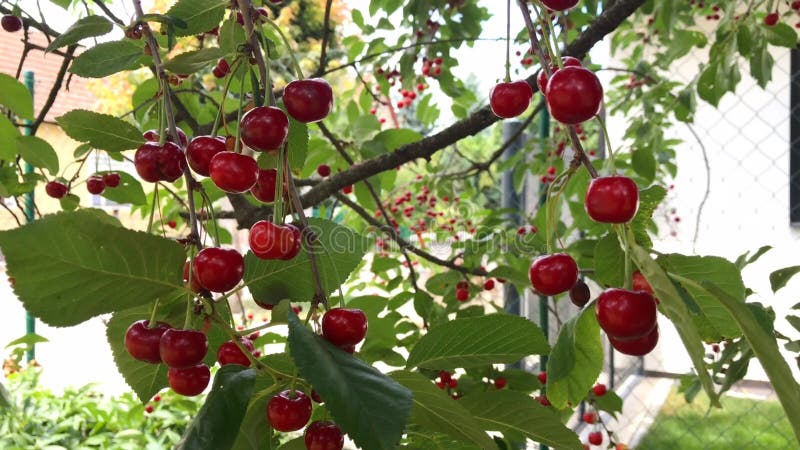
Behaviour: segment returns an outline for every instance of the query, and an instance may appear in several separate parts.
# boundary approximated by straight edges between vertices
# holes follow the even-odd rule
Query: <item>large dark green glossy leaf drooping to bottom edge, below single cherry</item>
[[[370,450],[397,447],[411,412],[411,392],[330,344],[289,313],[289,351],[297,369],[325,399],[336,423]]]

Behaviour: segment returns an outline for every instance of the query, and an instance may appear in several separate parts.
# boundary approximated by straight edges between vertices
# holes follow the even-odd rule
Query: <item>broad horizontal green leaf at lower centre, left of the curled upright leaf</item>
[[[533,322],[508,314],[489,314],[432,328],[411,350],[407,367],[451,369],[512,364],[525,356],[549,351],[544,333]]]

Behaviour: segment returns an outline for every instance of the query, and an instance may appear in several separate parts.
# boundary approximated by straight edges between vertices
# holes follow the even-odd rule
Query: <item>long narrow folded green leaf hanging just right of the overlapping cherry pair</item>
[[[705,363],[705,348],[700,332],[692,320],[692,313],[681,299],[675,285],[672,284],[667,274],[651,257],[647,249],[638,245],[631,246],[631,258],[642,275],[655,291],[655,296],[661,302],[660,310],[675,325],[675,329],[689,352],[689,357],[697,369],[697,375],[712,406],[720,407],[719,395],[714,390],[711,376],[708,374]]]

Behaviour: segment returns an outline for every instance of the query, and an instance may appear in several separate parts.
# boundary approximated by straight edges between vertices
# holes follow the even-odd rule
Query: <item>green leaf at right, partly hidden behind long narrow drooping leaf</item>
[[[658,263],[670,274],[687,278],[696,283],[702,281],[716,283],[725,289],[725,292],[730,296],[744,302],[745,288],[742,274],[735,264],[724,258],[671,254],[659,257]],[[736,325],[736,322],[732,320],[730,314],[712,295],[702,289],[697,289],[691,283],[682,282],[681,279],[678,279],[678,282],[691,294],[703,314],[708,318],[708,326],[713,334],[706,334],[703,336],[704,339],[718,341],[720,337],[735,338],[741,336],[742,331]]]

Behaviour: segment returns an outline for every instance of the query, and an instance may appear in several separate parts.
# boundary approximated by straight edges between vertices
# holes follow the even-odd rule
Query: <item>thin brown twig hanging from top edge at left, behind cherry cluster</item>
[[[175,115],[172,112],[172,98],[170,94],[169,88],[169,80],[167,77],[167,72],[164,70],[164,64],[161,61],[161,54],[159,53],[158,41],[156,37],[153,35],[152,30],[150,30],[150,26],[145,22],[142,17],[144,16],[144,11],[142,10],[142,2],[141,0],[133,0],[133,7],[136,11],[136,21],[142,24],[142,32],[144,33],[145,37],[147,38],[147,45],[150,47],[150,53],[153,57],[153,66],[155,68],[156,76],[158,77],[161,83],[161,95],[163,96],[164,100],[164,113],[167,118],[167,124],[169,125],[169,134],[173,137],[176,145],[183,149],[183,143],[181,142],[180,137],[178,136],[178,126],[175,123]],[[163,130],[159,130],[159,133],[163,134]],[[188,193],[188,204],[189,204],[189,224],[191,227],[191,240],[195,241],[195,245],[197,248],[202,248],[202,244],[200,243],[200,232],[197,225],[197,211],[195,210],[194,205],[194,185],[195,181],[192,178],[192,174],[189,172],[189,166],[183,168],[183,177],[186,181],[186,190]]]

